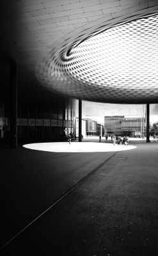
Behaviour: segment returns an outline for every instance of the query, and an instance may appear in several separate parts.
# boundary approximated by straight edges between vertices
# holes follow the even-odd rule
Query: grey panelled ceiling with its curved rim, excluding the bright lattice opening
[[[79,81],[74,75],[69,81],[68,77],[72,76],[69,72],[70,67],[69,70],[67,67],[63,68],[60,59],[66,58],[65,53],[68,49],[73,49],[85,38],[99,33],[102,29],[109,29],[157,11],[157,0],[1,0],[1,66],[4,67],[4,61],[8,60],[18,64],[19,93],[24,98],[38,95],[40,84],[43,84],[44,88],[52,92],[70,97],[116,102],[116,99],[107,92],[112,92],[115,88],[106,87],[106,93],[103,90],[105,88],[99,88],[97,92],[97,86],[102,85],[91,83],[91,86],[88,84],[89,77],[86,77],[89,82],[85,83],[81,83],[82,77],[79,77]],[[52,76],[54,67],[58,67],[58,70],[56,69]],[[62,72],[66,72],[66,83],[65,77],[63,81],[60,80]],[[4,76],[2,87],[5,89],[9,74],[8,71],[1,73]],[[116,95],[115,92],[113,94]],[[155,92],[150,100],[157,102]]]

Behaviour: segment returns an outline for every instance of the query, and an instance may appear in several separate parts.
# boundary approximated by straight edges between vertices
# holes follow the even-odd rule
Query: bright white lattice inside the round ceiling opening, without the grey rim
[[[158,15],[107,29],[84,40],[68,55],[58,60],[65,75],[60,79],[158,93]],[[55,72],[56,68],[51,75]]]

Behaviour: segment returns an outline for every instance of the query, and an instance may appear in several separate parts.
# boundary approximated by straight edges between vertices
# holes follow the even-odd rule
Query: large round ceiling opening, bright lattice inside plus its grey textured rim
[[[118,12],[52,45],[36,76],[49,90],[79,99],[157,102],[157,38],[157,7],[138,15]]]

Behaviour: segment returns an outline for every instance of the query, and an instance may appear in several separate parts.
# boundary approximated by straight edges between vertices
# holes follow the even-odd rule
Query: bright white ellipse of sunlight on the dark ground
[[[136,148],[133,145],[113,145],[112,143],[97,142],[49,142],[23,145],[25,148],[49,152],[110,152]]]

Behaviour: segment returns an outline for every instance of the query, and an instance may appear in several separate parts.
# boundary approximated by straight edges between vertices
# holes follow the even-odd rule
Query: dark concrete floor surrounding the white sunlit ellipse
[[[158,141],[130,145],[137,148],[1,148],[1,246],[11,239],[1,255],[158,255]]]

